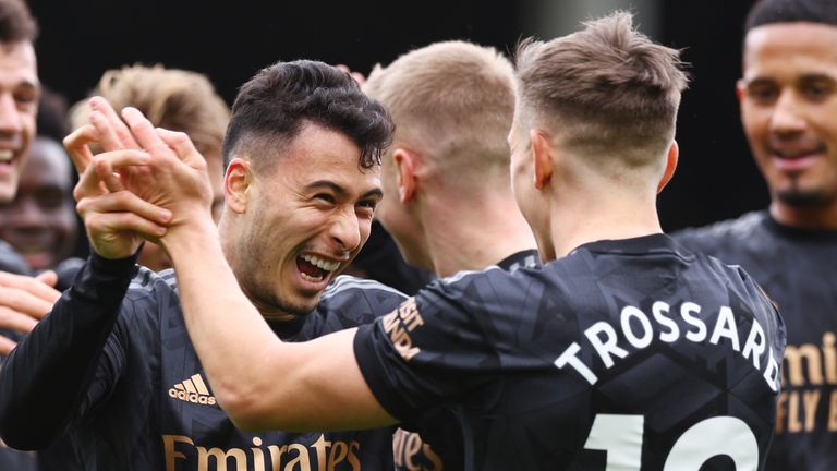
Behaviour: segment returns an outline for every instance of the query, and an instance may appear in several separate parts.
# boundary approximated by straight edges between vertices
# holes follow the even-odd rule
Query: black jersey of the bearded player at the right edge
[[[767,469],[837,470],[837,230],[781,226],[762,210],[672,237],[741,265],[785,319],[783,394]]]

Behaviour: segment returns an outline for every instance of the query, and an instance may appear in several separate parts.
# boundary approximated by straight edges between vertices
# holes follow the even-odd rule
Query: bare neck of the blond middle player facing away
[[[439,204],[423,215],[434,273],[446,277],[478,270],[536,247],[535,238],[511,198]]]

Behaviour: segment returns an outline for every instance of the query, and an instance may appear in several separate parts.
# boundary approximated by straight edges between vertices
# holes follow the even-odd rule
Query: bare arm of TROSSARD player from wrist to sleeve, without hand
[[[282,342],[239,288],[217,237],[182,231],[162,242],[178,274],[192,342],[236,426],[308,431],[395,423],[357,366],[355,329]]]

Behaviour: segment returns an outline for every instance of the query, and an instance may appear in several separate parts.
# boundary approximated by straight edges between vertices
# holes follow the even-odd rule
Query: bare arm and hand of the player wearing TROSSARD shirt
[[[209,210],[204,159],[184,134],[123,112],[151,156],[154,192],[173,214],[161,239],[178,275],[192,342],[220,406],[244,430],[337,430],[395,420],[372,395],[354,358],[354,330],[286,343],[239,288]]]

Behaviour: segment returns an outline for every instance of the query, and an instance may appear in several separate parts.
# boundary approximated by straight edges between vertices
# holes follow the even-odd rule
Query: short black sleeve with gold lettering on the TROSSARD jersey
[[[392,416],[411,421],[490,381],[499,355],[459,283],[436,282],[362,326],[354,352],[366,384]]]

